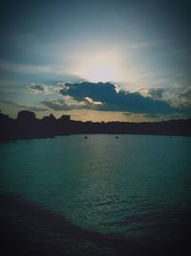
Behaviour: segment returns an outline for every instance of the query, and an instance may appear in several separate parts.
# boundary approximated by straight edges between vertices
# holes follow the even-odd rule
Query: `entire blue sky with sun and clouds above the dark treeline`
[[[189,1],[1,1],[0,109],[15,118],[191,118]]]

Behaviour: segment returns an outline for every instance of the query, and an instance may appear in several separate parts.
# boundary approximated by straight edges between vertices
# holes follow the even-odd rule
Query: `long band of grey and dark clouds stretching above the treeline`
[[[33,97],[38,94],[36,105],[21,105],[11,101],[4,104],[32,111],[97,110],[121,112],[124,116],[142,115],[157,117],[189,117],[191,110],[191,86],[177,87],[173,91],[162,88],[139,87],[125,91],[112,82],[57,82],[54,85],[27,86]],[[44,95],[43,95],[44,94]],[[43,99],[44,98],[44,99]]]

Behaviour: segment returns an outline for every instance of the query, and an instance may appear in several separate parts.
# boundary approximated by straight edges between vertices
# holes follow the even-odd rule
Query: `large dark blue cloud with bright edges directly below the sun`
[[[149,95],[142,96],[137,92],[126,92],[119,90],[117,92],[115,84],[111,82],[89,82],[82,81],[76,83],[65,83],[67,87],[58,92],[62,95],[69,95],[76,101],[84,101],[90,98],[98,110],[102,111],[128,111],[134,113],[172,113],[177,109],[161,98],[162,89],[150,89]],[[151,97],[152,96],[152,97]]]

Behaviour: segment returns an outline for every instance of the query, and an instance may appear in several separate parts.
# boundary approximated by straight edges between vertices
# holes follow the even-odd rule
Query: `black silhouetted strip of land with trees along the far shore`
[[[0,113],[0,140],[51,138],[71,134],[153,134],[191,136],[191,119],[162,122],[93,123],[71,120],[70,115],[56,119],[53,114],[37,119],[32,111],[22,110],[17,118]]]

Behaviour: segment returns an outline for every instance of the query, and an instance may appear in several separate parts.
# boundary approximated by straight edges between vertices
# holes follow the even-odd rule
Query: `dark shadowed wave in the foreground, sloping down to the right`
[[[177,255],[189,245],[186,240],[160,244],[152,238],[136,240],[85,230],[53,210],[13,195],[0,195],[0,206],[1,243],[8,255]]]

